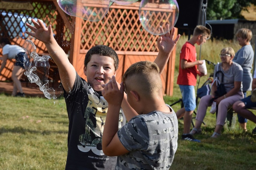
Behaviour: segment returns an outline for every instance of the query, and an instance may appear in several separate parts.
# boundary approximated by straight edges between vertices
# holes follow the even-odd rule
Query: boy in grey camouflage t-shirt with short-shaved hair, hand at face
[[[102,137],[105,155],[118,156],[116,169],[169,169],[177,150],[178,120],[165,104],[162,81],[155,63],[141,61],[123,75],[120,90],[114,76],[104,86],[108,115]],[[123,91],[130,106],[139,114],[118,130],[118,108]]]

